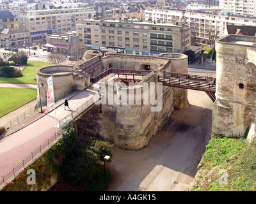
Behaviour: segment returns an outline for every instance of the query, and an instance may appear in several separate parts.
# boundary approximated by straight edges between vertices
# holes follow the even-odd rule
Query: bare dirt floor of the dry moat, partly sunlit
[[[138,151],[113,147],[107,191],[188,191],[211,138],[212,106],[205,92],[188,91],[189,108],[175,110],[148,146]],[[90,121],[87,119],[87,121]],[[61,180],[51,191],[83,191]]]

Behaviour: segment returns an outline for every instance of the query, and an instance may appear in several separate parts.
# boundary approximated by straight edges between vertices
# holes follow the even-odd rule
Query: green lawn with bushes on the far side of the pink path
[[[23,69],[23,77],[16,78],[5,78],[0,77],[0,83],[9,83],[9,84],[36,84],[34,78],[36,78],[36,69],[51,65],[50,62],[38,62],[38,61],[29,61],[25,69]]]

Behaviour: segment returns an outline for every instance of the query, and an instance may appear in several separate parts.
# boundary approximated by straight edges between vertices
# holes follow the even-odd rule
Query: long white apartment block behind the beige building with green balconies
[[[182,17],[182,11],[179,9],[147,8],[145,10],[145,20],[156,22],[173,22]],[[191,29],[191,38],[195,36],[198,43],[209,45],[209,29],[214,28],[223,36],[225,27],[229,25],[256,25],[256,17],[245,17],[242,15],[224,15],[210,11],[191,11],[186,10],[189,27]]]

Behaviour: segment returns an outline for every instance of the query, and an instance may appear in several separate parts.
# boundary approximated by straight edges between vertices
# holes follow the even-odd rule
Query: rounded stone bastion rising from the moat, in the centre
[[[163,99],[163,104],[159,108],[160,111],[152,111],[154,105],[150,103],[149,95],[148,103],[146,102],[147,100],[145,101],[145,98],[143,98],[143,94],[147,90],[144,89],[144,87],[147,85],[150,91],[149,84],[151,82],[154,82],[155,84],[154,91],[156,95],[158,76],[154,73],[148,74],[147,77],[140,82],[143,86],[140,92],[134,91],[132,94],[129,94],[129,89],[132,88],[127,87],[125,89],[122,87],[120,90],[117,84],[113,86],[114,95],[118,94],[118,91],[127,93],[127,105],[124,103],[116,104],[115,102],[113,105],[102,104],[102,128],[100,136],[115,143],[117,147],[122,149],[137,150],[148,144],[150,138],[152,138],[157,130],[163,126],[173,111],[172,87],[168,87],[168,89],[163,92],[163,97],[159,98],[159,101],[162,101]],[[108,89],[107,85],[106,90]],[[149,93],[147,92],[147,94]],[[105,100],[104,96],[109,97],[111,96],[111,93],[108,91],[104,92],[102,94],[103,101]],[[131,96],[134,99],[134,105],[128,103]],[[136,104],[136,96],[140,98],[140,105]],[[107,103],[109,103],[109,101],[107,101]]]

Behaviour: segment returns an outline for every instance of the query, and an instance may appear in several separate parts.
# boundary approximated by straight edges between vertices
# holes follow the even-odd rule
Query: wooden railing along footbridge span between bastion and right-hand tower
[[[174,78],[174,77],[159,77],[159,82],[163,82],[164,85],[170,85],[172,87],[180,87],[185,89],[194,89],[198,91],[216,91],[216,84],[212,82],[205,82],[201,80],[190,80],[186,78]]]

